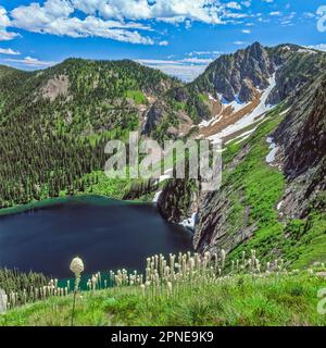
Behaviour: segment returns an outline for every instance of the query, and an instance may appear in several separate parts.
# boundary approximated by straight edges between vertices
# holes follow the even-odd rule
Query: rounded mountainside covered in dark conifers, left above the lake
[[[97,185],[105,142],[139,129],[150,102],[177,85],[128,60],[0,66],[0,208]]]

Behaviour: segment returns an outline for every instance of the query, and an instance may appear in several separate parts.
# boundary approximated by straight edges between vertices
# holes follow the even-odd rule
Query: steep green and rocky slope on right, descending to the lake
[[[277,148],[273,163],[263,163],[268,151],[262,151],[262,139],[253,138],[246,142],[237,156],[226,164],[225,185],[220,191],[208,195],[199,209],[199,223],[193,240],[198,250],[216,251],[223,248],[227,252],[233,252],[242,248],[243,245],[255,244],[264,232],[267,235],[271,233],[268,236],[272,238],[271,240],[273,238],[279,239],[275,244],[273,252],[284,256],[286,254],[285,245],[291,243],[290,238],[292,238],[287,231],[292,228],[294,221],[302,223],[302,231],[306,232],[306,235],[296,236],[299,239],[309,240],[309,233],[312,234],[309,228],[317,231],[317,227],[313,228],[309,225],[312,220],[311,215],[324,216],[319,217],[319,223],[325,225],[325,94],[326,76],[317,79],[313,85],[302,87],[297,94],[297,98],[291,100],[293,104],[287,113],[286,110],[283,112],[279,110],[271,114],[271,117],[281,117],[279,115],[286,113],[274,132],[266,132],[273,127],[272,124],[268,126],[268,122],[265,126],[267,128],[262,132],[262,138],[271,136]],[[264,125],[262,125],[262,129]],[[256,165],[253,158],[259,149],[262,151],[262,162]],[[248,165],[250,169],[247,172]],[[259,171],[264,172],[263,166],[273,167],[275,179],[269,182],[265,177],[254,174]],[[234,175],[237,181],[233,179]],[[277,175],[279,175],[279,179]],[[284,176],[283,188],[279,187],[274,201],[273,199],[269,201],[269,196],[274,195],[272,185],[275,185],[276,191],[281,175]],[[248,183],[248,176],[252,179],[260,179],[260,182]],[[265,187],[259,189],[256,185]],[[253,194],[251,190],[256,195],[253,201],[250,199]],[[265,194],[266,197],[262,199]],[[235,209],[235,204],[239,206]],[[256,209],[269,212],[268,214],[256,213]],[[274,226],[272,225],[273,214],[275,214]],[[276,226],[278,227],[276,228]],[[273,232],[274,229],[275,232]],[[261,247],[263,240],[256,244],[258,247]],[[293,245],[292,248],[294,250],[296,246]],[[303,252],[303,250],[301,251]],[[322,257],[325,259],[326,251]]]

